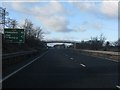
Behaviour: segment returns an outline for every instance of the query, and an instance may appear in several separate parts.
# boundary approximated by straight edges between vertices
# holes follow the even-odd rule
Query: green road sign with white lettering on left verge
[[[24,43],[24,29],[4,29],[4,38],[8,43]]]

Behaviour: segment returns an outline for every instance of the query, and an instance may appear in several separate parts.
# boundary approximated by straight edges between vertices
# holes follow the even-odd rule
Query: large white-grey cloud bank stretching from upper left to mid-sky
[[[32,6],[33,3],[12,2],[9,6],[17,12],[32,15],[39,20],[44,27],[55,32],[70,32],[69,21],[65,18],[66,10],[60,2],[47,2],[44,5]],[[32,7],[27,7],[32,6]]]

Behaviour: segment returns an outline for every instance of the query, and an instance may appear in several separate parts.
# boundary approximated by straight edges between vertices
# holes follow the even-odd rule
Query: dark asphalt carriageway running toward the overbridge
[[[71,49],[49,49],[3,81],[4,88],[116,88],[119,62],[80,54]]]

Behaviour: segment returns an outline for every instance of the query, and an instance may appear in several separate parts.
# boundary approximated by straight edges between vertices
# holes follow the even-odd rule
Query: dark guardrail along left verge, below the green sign
[[[37,51],[23,51],[23,52],[16,52],[16,53],[10,53],[10,54],[3,54],[2,67],[3,69],[6,69],[9,66],[28,60],[29,58],[37,54],[38,54]]]

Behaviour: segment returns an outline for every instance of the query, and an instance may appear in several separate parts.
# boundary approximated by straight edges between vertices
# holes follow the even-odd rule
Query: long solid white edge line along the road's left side
[[[39,57],[35,58],[34,60],[30,61],[30,62],[27,63],[26,65],[22,66],[22,67],[19,68],[18,70],[12,72],[12,73],[9,74],[8,76],[4,77],[2,80],[0,80],[0,83],[2,83],[2,82],[5,81],[6,79],[8,79],[8,78],[11,77],[12,75],[14,75],[15,73],[19,72],[20,70],[24,69],[24,68],[27,67],[28,65],[32,64],[34,61],[36,61],[37,59],[41,58],[41,57],[44,56],[46,53],[48,53],[48,51],[46,51],[45,53],[43,53],[43,54],[40,55]]]

